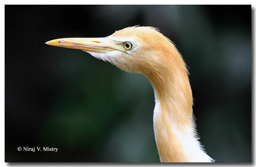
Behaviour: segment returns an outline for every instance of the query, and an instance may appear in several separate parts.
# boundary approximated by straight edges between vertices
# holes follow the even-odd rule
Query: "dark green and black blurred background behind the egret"
[[[146,77],[44,44],[138,24],[159,28],[190,67],[208,155],[251,162],[251,5],[5,5],[5,162],[159,162]]]

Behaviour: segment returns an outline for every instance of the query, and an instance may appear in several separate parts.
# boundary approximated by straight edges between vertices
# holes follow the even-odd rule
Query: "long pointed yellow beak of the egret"
[[[105,38],[60,38],[46,42],[56,47],[80,49],[91,52],[108,53],[119,50],[118,42]],[[118,48],[118,49],[116,49]]]

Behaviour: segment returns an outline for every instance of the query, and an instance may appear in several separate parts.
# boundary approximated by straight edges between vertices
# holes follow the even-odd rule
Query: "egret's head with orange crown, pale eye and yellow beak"
[[[121,70],[146,76],[170,68],[178,53],[174,44],[154,27],[127,27],[104,38],[61,38],[45,44],[83,50]]]

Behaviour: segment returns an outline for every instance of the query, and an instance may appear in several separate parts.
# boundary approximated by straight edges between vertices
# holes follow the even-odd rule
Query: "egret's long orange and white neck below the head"
[[[177,53],[169,67],[147,78],[155,92],[153,115],[156,145],[161,162],[211,162],[196,137],[193,98],[186,65]],[[175,67],[173,69],[172,67]]]

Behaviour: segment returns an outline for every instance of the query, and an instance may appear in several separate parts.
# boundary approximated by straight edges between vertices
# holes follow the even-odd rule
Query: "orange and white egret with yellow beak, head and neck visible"
[[[161,162],[214,162],[199,142],[188,70],[174,43],[154,27],[127,27],[104,38],[61,38],[45,44],[79,49],[147,77],[155,94],[153,125]]]

